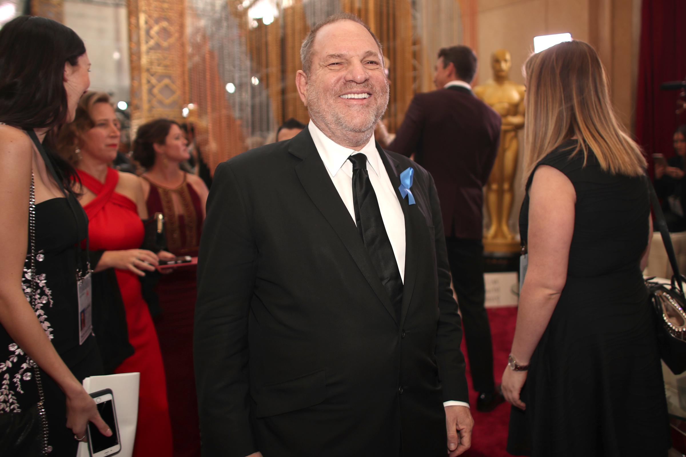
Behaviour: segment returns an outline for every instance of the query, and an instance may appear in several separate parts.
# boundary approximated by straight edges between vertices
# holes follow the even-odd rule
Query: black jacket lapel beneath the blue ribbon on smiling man
[[[418,208],[415,205],[407,203],[407,198],[403,199],[400,195],[400,177],[399,174],[403,170],[399,170],[400,163],[386,153],[377,143],[379,156],[383,166],[386,167],[386,173],[390,178],[390,182],[395,190],[395,195],[400,201],[400,206],[403,208],[405,215],[405,277],[403,278],[403,304],[401,306],[400,325],[403,326],[407,310],[410,308],[410,301],[412,293],[414,293],[414,282],[417,278],[417,259],[418,259],[418,243],[414,242],[415,234],[421,232],[417,228]],[[412,208],[412,207],[415,208]]]

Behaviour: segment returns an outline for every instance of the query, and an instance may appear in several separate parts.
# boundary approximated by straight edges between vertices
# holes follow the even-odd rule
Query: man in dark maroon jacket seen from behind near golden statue
[[[445,242],[464,321],[477,409],[503,402],[493,380],[493,345],[484,308],[484,186],[498,151],[501,117],[469,85],[477,59],[466,46],[441,49],[434,84],[417,94],[388,149],[421,164],[436,182]],[[383,143],[383,141],[382,141]]]

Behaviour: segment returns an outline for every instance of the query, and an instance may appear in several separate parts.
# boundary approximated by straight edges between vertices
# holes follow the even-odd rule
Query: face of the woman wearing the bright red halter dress
[[[110,103],[95,103],[91,109],[93,127],[78,136],[81,153],[109,163],[117,157],[119,148],[119,120]]]

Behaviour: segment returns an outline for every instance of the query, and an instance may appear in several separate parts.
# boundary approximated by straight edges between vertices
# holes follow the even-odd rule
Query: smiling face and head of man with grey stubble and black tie
[[[312,48],[309,75],[296,77],[310,118],[336,143],[366,143],[388,106],[377,43],[362,25],[343,20],[324,25]]]

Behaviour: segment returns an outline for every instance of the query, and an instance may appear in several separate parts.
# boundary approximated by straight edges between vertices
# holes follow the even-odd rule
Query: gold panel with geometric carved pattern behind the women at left
[[[178,0],[128,0],[132,134],[152,119],[181,119],[187,99],[185,7]]]

